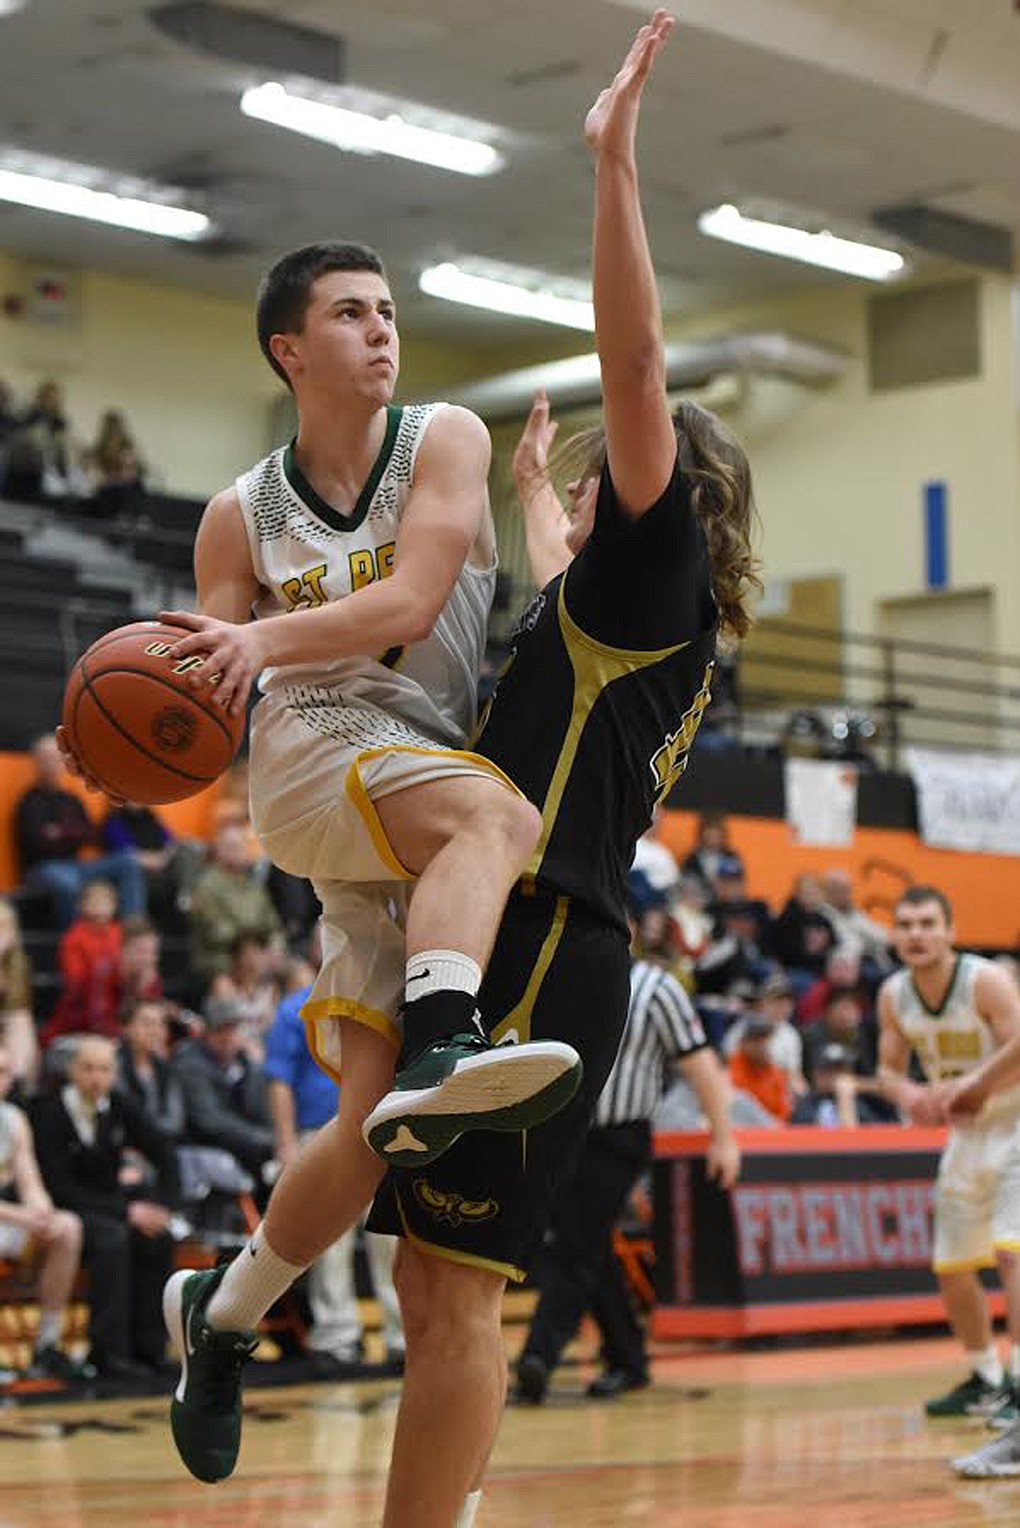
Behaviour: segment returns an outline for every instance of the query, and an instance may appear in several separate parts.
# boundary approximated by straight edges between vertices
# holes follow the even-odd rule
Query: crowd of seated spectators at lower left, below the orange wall
[[[20,886],[0,898],[0,1259],[35,1247],[34,1374],[136,1384],[165,1366],[174,1244],[240,1242],[244,1204],[264,1207],[301,1134],[336,1112],[336,1085],[310,1086],[293,1002],[315,978],[318,903],[270,876],[243,785],[224,788],[209,842],[182,842],[145,807],[90,816],[52,736],[31,756],[12,821]],[[32,949],[53,950],[52,1001],[18,912]],[[363,1352],[353,1250],[310,1279],[324,1374]],[[370,1262],[392,1368],[392,1250],[371,1245]],[[86,1360],[61,1343],[79,1267]]]

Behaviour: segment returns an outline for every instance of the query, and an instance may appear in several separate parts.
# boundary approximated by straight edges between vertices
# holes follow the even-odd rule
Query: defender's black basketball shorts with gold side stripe
[[[478,999],[483,1019],[495,1041],[566,1041],[585,1065],[582,1085],[534,1131],[470,1131],[428,1167],[391,1169],[368,1229],[524,1279],[553,1195],[585,1143],[629,996],[631,953],[621,929],[570,897],[515,889]]]

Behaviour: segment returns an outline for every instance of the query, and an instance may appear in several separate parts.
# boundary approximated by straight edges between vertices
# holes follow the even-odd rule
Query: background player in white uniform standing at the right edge
[[[953,947],[953,912],[934,886],[896,905],[893,938],[904,970],[878,993],[880,1079],[915,1125],[947,1118],[947,1088],[1020,1039],[1020,995],[991,961]],[[925,1082],[909,1077],[918,1057]],[[1006,1294],[1009,1372],[991,1331],[980,1268],[999,1268]],[[1020,1089],[989,1099],[953,1128],[934,1198],[934,1271],[970,1374],[928,1401],[930,1416],[988,1413],[1020,1386]]]

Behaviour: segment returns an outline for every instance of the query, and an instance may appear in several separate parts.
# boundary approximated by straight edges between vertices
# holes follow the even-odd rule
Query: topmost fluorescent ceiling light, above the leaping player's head
[[[475,138],[441,133],[405,121],[399,112],[370,116],[327,101],[292,95],[281,84],[253,86],[241,96],[241,112],[292,133],[318,138],[353,154],[392,154],[420,165],[454,170],[463,176],[492,176],[502,154]]]

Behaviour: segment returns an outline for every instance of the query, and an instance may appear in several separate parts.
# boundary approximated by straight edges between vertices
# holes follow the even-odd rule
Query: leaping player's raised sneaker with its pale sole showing
[[[478,1033],[426,1045],[394,1077],[362,1134],[394,1167],[440,1157],[464,1131],[530,1131],[570,1103],[580,1056],[562,1041],[492,1045]]]

